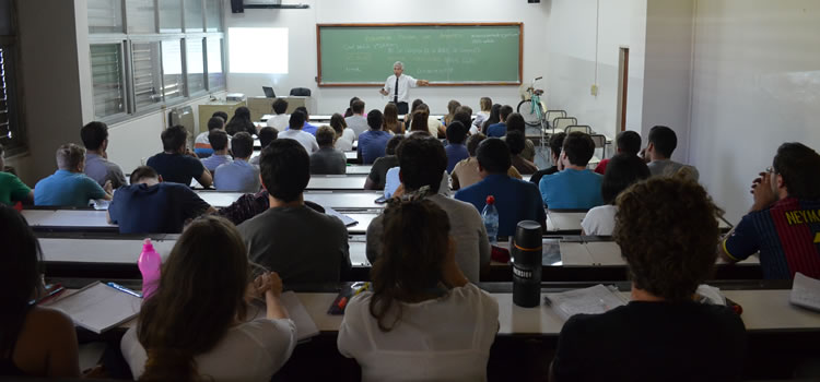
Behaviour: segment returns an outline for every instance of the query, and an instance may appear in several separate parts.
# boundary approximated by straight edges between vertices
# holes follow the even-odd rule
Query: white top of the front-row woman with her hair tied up
[[[337,345],[355,358],[362,381],[484,381],[499,331],[499,302],[477,286],[401,303],[401,320],[382,332],[370,313],[372,293],[352,298]]]

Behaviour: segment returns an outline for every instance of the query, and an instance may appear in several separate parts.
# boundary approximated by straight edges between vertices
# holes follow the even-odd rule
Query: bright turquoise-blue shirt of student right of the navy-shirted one
[[[564,169],[541,177],[538,188],[541,200],[550,210],[589,210],[604,205],[600,195],[602,177],[590,169]]]

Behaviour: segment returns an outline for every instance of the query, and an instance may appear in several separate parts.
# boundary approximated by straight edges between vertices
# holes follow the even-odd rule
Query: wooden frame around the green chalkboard
[[[321,28],[362,26],[518,26],[518,81],[513,82],[430,82],[429,86],[519,86],[524,76],[524,23],[364,23],[364,24],[316,24],[316,82],[325,87],[382,86],[383,83],[327,83],[321,80]],[[389,74],[388,74],[389,75]],[[385,76],[387,77],[387,76]]]

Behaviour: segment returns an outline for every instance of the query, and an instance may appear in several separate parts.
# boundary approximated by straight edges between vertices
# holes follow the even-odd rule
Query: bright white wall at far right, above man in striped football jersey
[[[737,222],[777,146],[820,148],[820,2],[699,0],[689,157]]]

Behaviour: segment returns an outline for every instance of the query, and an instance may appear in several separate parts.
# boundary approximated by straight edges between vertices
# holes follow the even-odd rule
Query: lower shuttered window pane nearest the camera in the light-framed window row
[[[122,44],[91,46],[94,116],[97,119],[126,112],[122,70]]]

